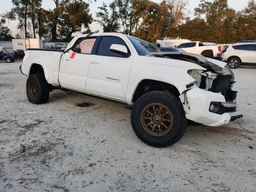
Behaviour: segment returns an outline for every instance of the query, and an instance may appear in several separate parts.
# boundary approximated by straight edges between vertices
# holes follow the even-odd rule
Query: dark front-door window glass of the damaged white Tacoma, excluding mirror
[[[97,50],[97,55],[109,56],[109,57],[122,57],[122,56],[110,51],[110,46],[112,44],[124,45],[124,46],[126,46],[128,52],[129,52],[129,49],[128,49],[126,43],[121,38],[114,37],[114,36],[103,36],[102,39],[100,40],[100,44],[99,44],[99,47]]]

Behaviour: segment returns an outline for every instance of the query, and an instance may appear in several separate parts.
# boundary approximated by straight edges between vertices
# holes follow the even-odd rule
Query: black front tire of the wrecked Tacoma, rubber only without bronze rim
[[[141,115],[146,106],[159,103],[166,106],[172,113],[171,130],[163,136],[152,136],[143,128]],[[179,98],[168,92],[152,91],[142,95],[135,102],[131,113],[131,124],[135,134],[142,142],[153,147],[167,147],[178,142],[186,132],[188,121]]]

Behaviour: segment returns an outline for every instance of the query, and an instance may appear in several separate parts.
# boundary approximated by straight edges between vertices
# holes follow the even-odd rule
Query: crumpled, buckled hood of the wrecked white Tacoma
[[[170,59],[184,60],[198,64],[204,68],[210,68],[212,71],[221,75],[231,75],[234,81],[234,74],[228,64],[212,58],[206,58],[200,54],[192,54],[186,52],[151,52],[146,56],[161,56]]]

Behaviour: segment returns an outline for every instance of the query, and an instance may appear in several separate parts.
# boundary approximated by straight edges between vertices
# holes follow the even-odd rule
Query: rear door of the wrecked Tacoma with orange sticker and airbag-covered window
[[[82,40],[61,58],[59,81],[66,88],[85,91],[89,61],[93,60],[92,49],[96,37]]]

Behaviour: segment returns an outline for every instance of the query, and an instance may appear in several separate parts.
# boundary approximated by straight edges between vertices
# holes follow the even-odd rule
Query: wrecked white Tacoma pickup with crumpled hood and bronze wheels
[[[155,147],[176,143],[190,123],[221,126],[242,117],[226,63],[161,52],[120,33],[80,35],[65,51],[28,49],[20,72],[34,104],[62,87],[130,105],[134,132]]]

